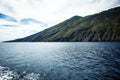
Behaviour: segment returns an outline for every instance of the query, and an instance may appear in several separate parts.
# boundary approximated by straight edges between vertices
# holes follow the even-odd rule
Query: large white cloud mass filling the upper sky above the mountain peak
[[[91,15],[119,5],[119,0],[0,0],[0,12],[17,20],[35,18],[52,26],[74,15]]]

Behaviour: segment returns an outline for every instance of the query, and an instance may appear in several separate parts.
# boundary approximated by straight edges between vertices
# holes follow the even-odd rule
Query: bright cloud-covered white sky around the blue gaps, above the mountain
[[[120,6],[120,0],[0,0],[0,13],[15,18],[13,26],[0,26],[0,41],[22,38],[58,24],[72,16],[87,16]],[[20,20],[32,18],[47,24],[21,25]],[[8,21],[0,20],[0,25]],[[13,25],[10,22],[9,25]]]

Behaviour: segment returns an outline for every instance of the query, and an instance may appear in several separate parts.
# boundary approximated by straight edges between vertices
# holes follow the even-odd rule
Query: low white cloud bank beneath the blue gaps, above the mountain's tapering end
[[[38,24],[32,25],[19,25],[15,27],[0,26],[0,41],[13,40],[16,38],[22,38],[39,31],[44,30],[46,27],[40,27]]]

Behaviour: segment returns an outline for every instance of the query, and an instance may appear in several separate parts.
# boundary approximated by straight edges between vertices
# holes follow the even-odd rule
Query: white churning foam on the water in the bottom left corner
[[[8,67],[0,66],[0,80],[40,80],[40,74],[27,72],[18,74],[17,72],[10,70]]]

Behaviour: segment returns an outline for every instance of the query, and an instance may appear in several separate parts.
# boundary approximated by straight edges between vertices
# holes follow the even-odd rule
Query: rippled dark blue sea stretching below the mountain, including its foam
[[[120,80],[120,43],[0,43],[0,80]]]

